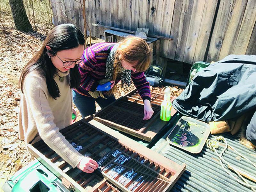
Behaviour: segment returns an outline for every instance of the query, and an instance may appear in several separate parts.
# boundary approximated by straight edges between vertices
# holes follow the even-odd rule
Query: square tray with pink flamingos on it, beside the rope
[[[203,121],[182,116],[166,140],[190,153],[200,153],[210,134],[210,126]]]

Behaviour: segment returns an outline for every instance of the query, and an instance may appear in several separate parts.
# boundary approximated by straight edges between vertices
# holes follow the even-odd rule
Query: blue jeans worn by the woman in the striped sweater
[[[93,97],[81,95],[74,90],[72,90],[72,94],[73,102],[83,118],[96,112],[95,101],[100,105],[101,109],[116,101],[114,95],[109,96],[107,99],[104,99],[102,97],[98,97],[97,99],[95,99]]]

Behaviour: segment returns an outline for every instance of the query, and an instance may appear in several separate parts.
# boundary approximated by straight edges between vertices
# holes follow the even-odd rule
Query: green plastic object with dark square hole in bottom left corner
[[[68,191],[61,184],[61,180],[37,160],[16,172],[4,185],[9,185],[12,192]]]

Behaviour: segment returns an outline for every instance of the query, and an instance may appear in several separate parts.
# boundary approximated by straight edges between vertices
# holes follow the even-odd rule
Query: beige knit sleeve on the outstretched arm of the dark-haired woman
[[[48,103],[47,86],[43,78],[27,76],[24,82],[28,106],[33,111],[33,118],[39,135],[44,142],[62,157],[73,168],[78,165],[82,157],[78,151],[60,133],[59,127],[53,122],[52,110]]]

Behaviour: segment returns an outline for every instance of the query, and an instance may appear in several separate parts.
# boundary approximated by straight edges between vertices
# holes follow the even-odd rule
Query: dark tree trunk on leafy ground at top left
[[[9,0],[15,27],[19,31],[32,31],[22,0]]]

